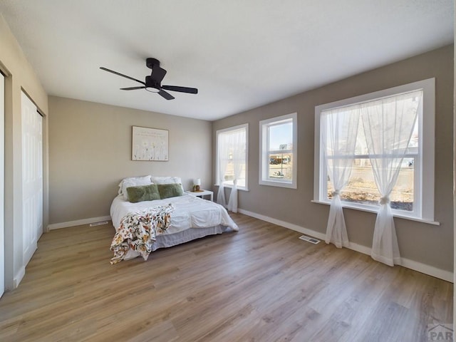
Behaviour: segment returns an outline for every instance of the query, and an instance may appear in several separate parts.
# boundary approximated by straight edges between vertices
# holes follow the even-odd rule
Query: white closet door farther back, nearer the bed
[[[43,233],[43,118],[22,93],[22,237],[24,266]]]

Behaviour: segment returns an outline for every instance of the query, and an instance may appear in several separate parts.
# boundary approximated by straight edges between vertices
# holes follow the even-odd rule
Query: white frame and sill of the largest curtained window
[[[321,112],[347,105],[356,105],[378,98],[399,95],[413,90],[423,90],[423,109],[418,115],[418,162],[414,165],[414,199],[413,212],[392,209],[395,217],[413,219],[420,222],[438,224],[434,222],[434,192],[435,192],[435,78],[408,83],[385,90],[375,91],[364,95],[338,100],[332,103],[317,105],[315,107],[315,151],[314,151],[314,200],[313,202],[330,204],[325,197],[327,190],[326,163],[323,158],[320,125]],[[368,212],[378,212],[378,206],[356,202],[341,201],[343,207],[359,209]]]

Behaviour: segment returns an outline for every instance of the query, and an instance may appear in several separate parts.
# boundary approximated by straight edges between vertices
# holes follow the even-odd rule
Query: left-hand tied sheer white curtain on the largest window
[[[329,180],[334,188],[325,241],[327,244],[332,242],[338,248],[348,247],[348,234],[340,194],[350,178],[355,159],[359,105],[327,110],[322,114],[323,151]]]

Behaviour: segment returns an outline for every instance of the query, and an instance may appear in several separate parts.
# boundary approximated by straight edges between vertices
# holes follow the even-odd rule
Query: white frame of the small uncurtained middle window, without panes
[[[293,155],[293,168],[291,170],[291,182],[288,180],[271,180],[269,178],[269,154],[276,150],[269,150],[269,134],[267,130],[272,125],[279,125],[281,121],[290,120],[293,124],[293,138],[291,151]],[[286,115],[277,116],[259,122],[259,184],[269,185],[273,187],[286,187],[290,189],[297,189],[297,175],[298,175],[298,114],[291,113]],[[283,152],[283,151],[281,151]]]

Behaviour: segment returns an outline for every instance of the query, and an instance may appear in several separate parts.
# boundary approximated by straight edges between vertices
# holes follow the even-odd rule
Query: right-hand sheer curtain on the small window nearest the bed
[[[234,180],[231,194],[229,195],[227,209],[232,212],[237,212],[237,182],[239,175],[242,172],[242,167],[245,164],[245,153],[246,153],[246,130],[235,130],[230,135],[229,145],[232,149],[232,162],[234,171]]]

